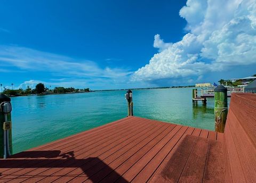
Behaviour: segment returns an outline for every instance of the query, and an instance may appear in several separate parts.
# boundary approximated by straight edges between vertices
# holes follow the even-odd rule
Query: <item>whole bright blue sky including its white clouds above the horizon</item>
[[[1,1],[0,82],[118,89],[251,76],[255,1],[225,3]]]

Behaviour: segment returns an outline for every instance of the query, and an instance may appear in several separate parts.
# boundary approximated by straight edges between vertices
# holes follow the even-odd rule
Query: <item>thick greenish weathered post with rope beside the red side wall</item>
[[[215,131],[224,132],[228,114],[227,88],[219,85],[214,89]]]

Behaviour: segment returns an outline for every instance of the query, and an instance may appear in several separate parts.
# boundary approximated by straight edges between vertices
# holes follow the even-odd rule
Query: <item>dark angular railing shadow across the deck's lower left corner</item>
[[[47,158],[47,159],[21,159],[20,158]],[[61,159],[54,159],[56,157],[60,157]],[[15,159],[16,158],[16,159]],[[97,179],[94,179],[93,174],[95,172],[91,172],[88,167],[86,166],[88,162],[97,162],[97,166],[104,168],[104,171],[111,172],[115,174],[115,176],[120,177],[119,180],[122,182],[127,182],[125,179],[123,179],[118,173],[116,173],[113,169],[111,169],[106,163],[104,163],[102,160],[100,160],[98,157],[89,157],[87,159],[81,159],[77,160],[74,157],[74,152],[68,152],[68,153],[62,153],[61,151],[27,151],[22,152],[15,156],[14,159],[7,159],[7,160],[0,160],[0,169],[3,168],[10,168],[10,169],[17,169],[17,168],[24,168],[24,169],[30,169],[30,168],[79,168],[83,171],[84,175],[81,175],[81,177],[87,177],[92,182],[98,182]],[[54,162],[54,163],[53,163]],[[0,176],[9,176],[9,174],[1,173]],[[46,178],[51,175],[46,176],[39,176],[40,178]],[[38,177],[33,175],[26,175],[26,178],[32,178],[32,177]],[[62,177],[62,176],[59,176]],[[1,178],[1,181],[9,180],[9,178]],[[22,177],[24,179],[24,177]],[[16,178],[15,181],[19,182],[19,178]]]

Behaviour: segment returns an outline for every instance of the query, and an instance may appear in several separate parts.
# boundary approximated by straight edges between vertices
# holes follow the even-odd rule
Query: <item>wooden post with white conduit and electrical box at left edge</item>
[[[0,158],[12,154],[11,98],[0,94]]]

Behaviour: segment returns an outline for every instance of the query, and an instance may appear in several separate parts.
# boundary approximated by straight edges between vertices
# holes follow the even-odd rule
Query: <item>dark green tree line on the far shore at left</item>
[[[51,87],[51,86],[50,86]],[[1,85],[2,91],[2,85]],[[2,91],[3,94],[8,96],[20,96],[20,95],[32,95],[32,94],[65,94],[65,93],[84,93],[90,92],[90,88],[84,89],[75,89],[73,87],[65,88],[65,87],[55,87],[54,89],[49,89],[44,86],[44,84],[39,83],[36,85],[34,89],[27,86],[26,89],[7,89],[4,88]]]

